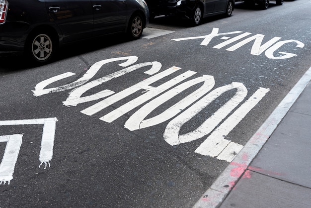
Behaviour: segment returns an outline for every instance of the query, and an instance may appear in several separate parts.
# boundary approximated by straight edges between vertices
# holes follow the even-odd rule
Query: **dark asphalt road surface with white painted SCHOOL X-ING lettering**
[[[192,207],[310,68],[310,9],[237,2],[40,67],[2,55],[0,207]]]

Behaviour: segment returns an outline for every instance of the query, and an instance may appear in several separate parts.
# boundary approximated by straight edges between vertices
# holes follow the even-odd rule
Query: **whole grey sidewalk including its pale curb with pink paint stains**
[[[311,68],[194,208],[311,208]]]

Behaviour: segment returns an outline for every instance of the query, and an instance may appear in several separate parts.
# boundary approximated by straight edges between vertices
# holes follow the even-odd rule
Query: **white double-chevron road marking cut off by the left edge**
[[[40,149],[40,166],[44,163],[46,169],[50,166],[50,161],[53,157],[53,146],[56,129],[57,118],[38,118],[25,120],[0,120],[0,126],[7,125],[34,125],[43,124],[43,132]],[[13,178],[14,167],[17,161],[18,153],[22,143],[22,134],[4,135],[0,136],[0,142],[7,142],[3,159],[0,164],[0,184],[8,182]]]

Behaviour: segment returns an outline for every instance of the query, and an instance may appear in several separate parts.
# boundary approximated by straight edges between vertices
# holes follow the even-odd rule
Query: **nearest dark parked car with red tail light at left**
[[[148,21],[144,0],[0,0],[0,53],[46,63],[67,43],[119,32],[137,39]]]

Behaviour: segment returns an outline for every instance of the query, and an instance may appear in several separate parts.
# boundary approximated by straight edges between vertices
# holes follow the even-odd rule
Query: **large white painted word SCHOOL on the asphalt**
[[[216,34],[214,34],[214,36],[215,35]],[[138,57],[120,57],[99,61],[90,67],[90,70],[92,71],[91,73],[86,72],[88,74],[92,74],[91,76],[87,76],[88,80],[93,77],[101,67],[105,67],[105,63],[111,63],[120,60],[138,60]],[[135,61],[130,63],[134,64]],[[121,65],[119,64],[119,66]],[[123,63],[123,66],[125,67],[129,65]],[[95,86],[104,84],[112,79],[118,78],[124,74],[133,72],[146,66],[151,66],[151,69],[144,73],[152,76],[137,84],[134,84],[133,86],[121,92],[115,93],[109,89],[106,89],[87,97],[81,97],[86,91],[94,88]],[[47,87],[49,84],[58,81],[57,79],[63,79],[61,76],[55,76],[40,82],[33,92],[35,96],[39,96],[75,88],[69,93],[67,100],[63,102],[65,105],[77,105],[89,101],[95,101],[100,98],[105,98],[104,100],[101,100],[98,103],[86,107],[80,111],[86,115],[94,115],[107,108],[108,106],[120,102],[130,95],[134,95],[134,93],[140,90],[144,90],[142,95],[134,98],[131,101],[128,101],[126,104],[123,104],[116,109],[111,110],[99,119],[111,123],[124,114],[129,113],[133,109],[144,104],[128,118],[124,124],[125,128],[128,128],[131,131],[139,130],[141,128],[154,126],[172,119],[166,126],[163,135],[164,140],[172,146],[203,138],[204,136],[207,136],[212,131],[214,131],[209,137],[207,137],[203,144],[197,148],[195,152],[211,157],[217,156],[218,159],[226,160],[228,162],[232,161],[234,156],[242,148],[242,145],[226,140],[223,135],[227,135],[239,123],[239,121],[241,121],[243,117],[266,95],[269,90],[260,88],[254,95],[252,95],[252,98],[248,99],[244,104],[242,104],[247,96],[247,89],[242,83],[233,82],[230,85],[214,89],[209,93],[209,91],[211,91],[215,85],[214,77],[203,75],[201,77],[192,78],[192,80],[187,80],[197,74],[196,72],[190,70],[184,73],[180,73],[180,75],[177,75],[175,78],[171,78],[169,81],[166,81],[157,87],[153,87],[151,84],[160,81],[162,78],[165,78],[168,75],[172,75],[173,73],[181,71],[181,68],[173,66],[160,72],[161,66],[161,63],[159,62],[145,62],[142,64],[129,66],[128,68],[106,75],[89,83],[84,83],[85,80],[82,84],[78,83],[78,81],[75,81],[72,84],[76,85],[76,87],[74,87],[74,85],[68,84],[61,87],[51,88],[53,90],[44,89],[44,87]],[[78,80],[82,81],[81,78]],[[194,90],[194,92],[183,98],[181,101],[164,110],[162,113],[144,120],[161,104],[164,104],[170,99],[176,97],[181,92],[201,83],[201,87]],[[198,86],[194,88],[197,87]],[[207,107],[218,97],[222,96],[222,94],[231,90],[236,91],[234,96],[226,104],[221,106],[213,115],[206,119],[201,124],[201,126],[191,132],[179,135],[179,132],[185,122],[193,118],[202,109]],[[238,105],[240,106],[238,107]],[[238,109],[236,109],[236,111],[231,114],[232,111],[237,107]],[[226,119],[226,117],[228,118]],[[217,126],[219,127],[216,128]]]

